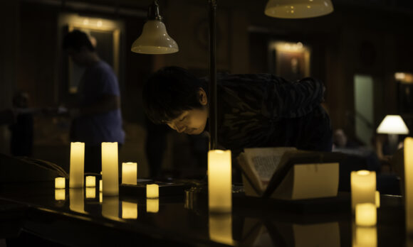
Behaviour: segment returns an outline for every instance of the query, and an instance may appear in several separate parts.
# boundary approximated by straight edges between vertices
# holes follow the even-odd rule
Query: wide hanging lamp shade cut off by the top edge
[[[276,18],[310,18],[333,12],[330,0],[268,0],[264,13]]]

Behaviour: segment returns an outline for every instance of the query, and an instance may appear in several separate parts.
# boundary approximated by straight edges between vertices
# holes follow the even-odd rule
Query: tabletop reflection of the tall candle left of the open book
[[[211,241],[232,245],[231,214],[209,214],[209,238]]]

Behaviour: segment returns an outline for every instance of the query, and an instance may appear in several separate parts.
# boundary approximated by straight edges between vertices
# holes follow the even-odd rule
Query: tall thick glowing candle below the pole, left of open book
[[[231,150],[208,152],[208,201],[211,212],[231,212]]]

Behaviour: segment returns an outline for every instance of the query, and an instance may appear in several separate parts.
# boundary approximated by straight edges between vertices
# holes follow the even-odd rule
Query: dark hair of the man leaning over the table
[[[150,76],[143,87],[143,107],[155,124],[176,119],[182,111],[201,109],[199,89],[204,82],[182,67],[164,67]]]

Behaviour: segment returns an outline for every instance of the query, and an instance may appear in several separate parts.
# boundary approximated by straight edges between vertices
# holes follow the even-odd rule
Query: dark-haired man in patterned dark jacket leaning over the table
[[[330,151],[330,118],[321,103],[325,87],[310,77],[297,82],[270,74],[217,77],[219,146],[296,147]],[[148,79],[143,103],[148,118],[179,133],[208,131],[208,87],[181,67],[164,67]]]

